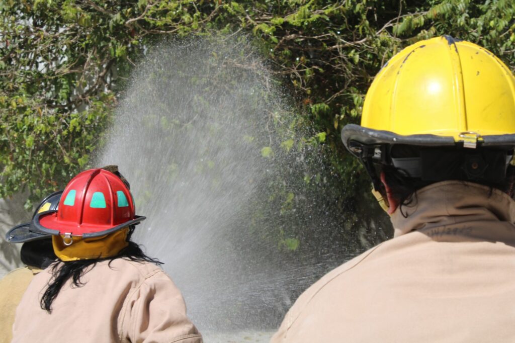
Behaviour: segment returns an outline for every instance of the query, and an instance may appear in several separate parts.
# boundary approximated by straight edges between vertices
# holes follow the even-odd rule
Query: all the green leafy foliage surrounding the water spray
[[[277,176],[269,188],[277,208],[287,216],[292,204],[308,202],[294,197],[287,203],[300,182],[326,192],[337,211],[354,213],[352,199],[368,180],[339,132],[359,122],[381,66],[408,44],[448,34],[485,46],[513,70],[514,16],[512,0],[5,0],[0,197],[28,188],[39,200],[88,166],[127,76],[153,43],[238,31],[254,38],[296,102],[294,120],[274,119],[278,141],[260,147],[263,158],[272,163],[277,154],[317,147],[330,161],[295,182]],[[303,129],[303,136],[291,136],[292,128]],[[307,152],[306,163],[315,158]]]

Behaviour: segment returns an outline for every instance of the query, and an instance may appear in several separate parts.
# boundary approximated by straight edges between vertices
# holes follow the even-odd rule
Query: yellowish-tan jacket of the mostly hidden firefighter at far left
[[[32,278],[41,271],[35,267],[23,267],[10,271],[0,280],[0,343],[12,339],[14,313]]]

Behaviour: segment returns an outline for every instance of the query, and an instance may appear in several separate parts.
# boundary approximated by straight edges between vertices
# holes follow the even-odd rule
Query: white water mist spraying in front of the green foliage
[[[302,162],[263,150],[274,122],[287,126],[287,104],[244,38],[161,43],[136,68],[96,161],[131,183],[147,216],[133,239],[165,263],[201,332],[276,329],[292,294],[343,262],[283,261],[266,213],[266,227],[249,229],[268,201],[264,180]]]

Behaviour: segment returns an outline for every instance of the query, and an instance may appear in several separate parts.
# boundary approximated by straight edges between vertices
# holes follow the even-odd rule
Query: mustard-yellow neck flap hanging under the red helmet
[[[61,261],[77,261],[91,259],[105,259],[116,256],[127,247],[127,233],[129,228],[115,231],[105,236],[82,238],[67,238],[62,235],[52,236],[54,253]]]

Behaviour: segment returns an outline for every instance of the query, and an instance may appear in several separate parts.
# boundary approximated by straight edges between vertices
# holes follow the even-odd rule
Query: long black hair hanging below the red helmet
[[[122,249],[116,256],[112,256],[109,258],[99,258],[99,259],[91,259],[91,260],[78,260],[78,261],[56,261],[52,266],[52,279],[48,282],[48,287],[45,289],[43,296],[41,297],[41,308],[46,310],[48,313],[52,313],[52,303],[59,295],[59,291],[66,283],[66,281],[72,279],[73,284],[72,287],[81,287],[84,283],[80,280],[80,278],[93,269],[98,262],[109,261],[109,266],[111,266],[111,262],[116,259],[126,259],[133,262],[139,263],[154,263],[156,265],[163,264],[158,259],[152,259],[145,255],[143,250],[141,250],[140,246],[132,241],[130,241],[130,236],[134,231],[134,226],[129,227],[129,233],[127,235],[127,242],[129,245]]]

